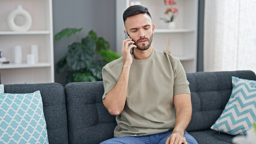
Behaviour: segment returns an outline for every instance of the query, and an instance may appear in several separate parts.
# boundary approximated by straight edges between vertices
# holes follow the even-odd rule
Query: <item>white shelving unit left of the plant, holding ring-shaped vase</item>
[[[0,4],[0,51],[10,61],[0,65],[1,83],[54,82],[52,0],[0,0]],[[17,5],[22,5],[32,17],[31,28],[26,32],[8,28],[7,16]],[[38,63],[26,64],[32,44],[38,45]],[[14,64],[16,45],[22,46],[22,64]]]

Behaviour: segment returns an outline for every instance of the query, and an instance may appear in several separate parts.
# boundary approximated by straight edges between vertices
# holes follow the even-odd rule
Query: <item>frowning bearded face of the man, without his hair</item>
[[[136,16],[127,17],[125,27],[137,49],[147,50],[151,46],[154,25],[152,25],[150,16],[137,14]]]

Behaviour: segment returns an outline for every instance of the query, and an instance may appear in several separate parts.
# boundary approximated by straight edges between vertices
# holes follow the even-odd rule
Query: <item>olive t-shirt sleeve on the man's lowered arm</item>
[[[190,90],[184,68],[180,60],[176,58],[174,62],[174,95],[177,94],[190,94]]]

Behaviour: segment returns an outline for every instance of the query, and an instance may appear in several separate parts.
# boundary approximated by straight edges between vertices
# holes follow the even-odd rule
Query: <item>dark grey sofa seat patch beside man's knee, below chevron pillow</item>
[[[234,137],[215,130],[191,131],[189,134],[195,137],[199,144],[230,144]]]

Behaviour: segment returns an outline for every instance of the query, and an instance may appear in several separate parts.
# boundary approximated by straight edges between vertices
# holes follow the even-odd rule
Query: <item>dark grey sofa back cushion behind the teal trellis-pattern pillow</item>
[[[49,143],[69,143],[64,88],[58,83],[4,85],[4,92],[26,94],[40,91]]]

